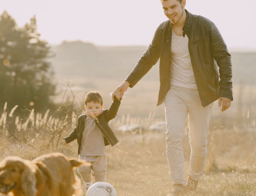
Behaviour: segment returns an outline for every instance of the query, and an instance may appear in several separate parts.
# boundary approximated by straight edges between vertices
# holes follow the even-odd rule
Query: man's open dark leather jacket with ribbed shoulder
[[[219,97],[233,100],[231,55],[219,30],[209,19],[193,15],[187,10],[185,12],[187,16],[183,36],[187,34],[189,38],[189,54],[202,106],[209,105]],[[125,79],[133,87],[160,58],[157,106],[164,102],[170,89],[171,39],[172,23],[167,20],[157,28],[147,51]]]

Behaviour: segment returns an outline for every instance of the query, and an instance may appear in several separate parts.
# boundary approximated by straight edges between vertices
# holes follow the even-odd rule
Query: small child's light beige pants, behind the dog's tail
[[[77,168],[78,173],[84,182],[91,182],[92,176],[95,182],[106,181],[107,156],[81,156],[87,162],[91,162],[91,166],[80,166]]]

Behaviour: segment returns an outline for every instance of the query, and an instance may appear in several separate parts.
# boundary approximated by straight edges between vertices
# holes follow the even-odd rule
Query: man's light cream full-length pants
[[[191,147],[189,174],[194,180],[201,178],[207,153],[207,135],[212,106],[213,103],[207,107],[202,106],[197,89],[172,85],[167,92],[165,96],[166,154],[169,176],[173,184],[186,186],[182,143],[187,115]]]

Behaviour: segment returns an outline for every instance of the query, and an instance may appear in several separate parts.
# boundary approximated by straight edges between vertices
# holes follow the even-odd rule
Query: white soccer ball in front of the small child
[[[98,182],[89,187],[86,196],[117,196],[117,194],[111,184]]]

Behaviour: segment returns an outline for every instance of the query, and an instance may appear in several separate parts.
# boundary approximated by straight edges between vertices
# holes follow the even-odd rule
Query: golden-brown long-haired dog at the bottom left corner
[[[73,167],[87,164],[61,153],[29,161],[6,157],[0,162],[0,193],[14,196],[72,196],[81,189]]]

